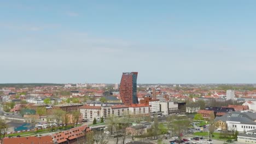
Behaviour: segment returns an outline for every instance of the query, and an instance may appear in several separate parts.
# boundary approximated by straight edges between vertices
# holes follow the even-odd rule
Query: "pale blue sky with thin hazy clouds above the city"
[[[0,83],[256,83],[256,1],[0,1]]]

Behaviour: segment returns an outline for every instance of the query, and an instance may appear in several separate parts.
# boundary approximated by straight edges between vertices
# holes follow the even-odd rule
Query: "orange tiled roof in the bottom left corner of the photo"
[[[53,139],[51,136],[28,136],[28,137],[13,137],[13,138],[8,138],[5,137],[2,140],[2,144],[9,144],[9,143],[15,143],[15,144],[31,144],[31,143],[37,143],[37,144],[50,144],[54,143]]]

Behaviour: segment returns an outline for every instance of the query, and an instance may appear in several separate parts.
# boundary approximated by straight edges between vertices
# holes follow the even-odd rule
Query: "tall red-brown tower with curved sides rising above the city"
[[[125,105],[138,104],[137,76],[138,72],[123,73],[122,75],[119,92]]]

